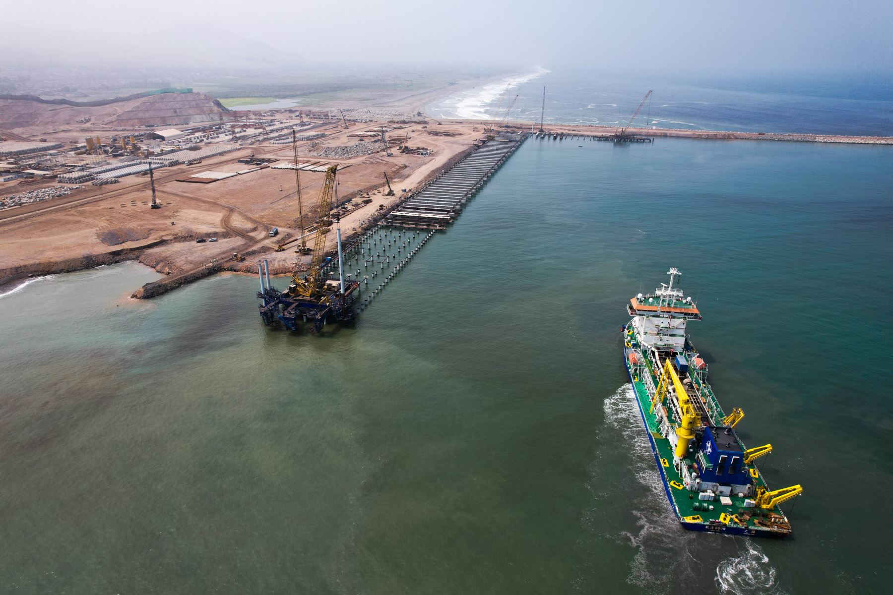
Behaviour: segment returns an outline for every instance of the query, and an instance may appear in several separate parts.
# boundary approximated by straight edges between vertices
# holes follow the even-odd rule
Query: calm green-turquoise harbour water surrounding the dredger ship
[[[321,337],[261,326],[253,277],[132,302],[156,275],[131,263],[5,295],[0,584],[885,591],[890,156],[530,140]],[[789,541],[669,516],[619,328],[670,266],[764,475],[805,486]]]

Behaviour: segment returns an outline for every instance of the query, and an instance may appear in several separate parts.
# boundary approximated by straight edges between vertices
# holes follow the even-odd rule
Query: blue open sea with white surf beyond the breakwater
[[[893,87],[884,79],[757,80],[605,76],[538,68],[455,93],[427,107],[435,118],[622,126],[649,89],[633,121],[639,128],[893,136]],[[505,97],[503,96],[505,95]]]

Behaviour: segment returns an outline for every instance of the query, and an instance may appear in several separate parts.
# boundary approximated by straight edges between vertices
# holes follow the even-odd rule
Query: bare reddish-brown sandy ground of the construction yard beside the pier
[[[353,145],[359,139],[347,134],[379,125],[352,123],[347,130],[331,127],[327,130],[330,136],[321,144]],[[408,133],[408,145],[428,147],[427,156],[404,155],[394,147],[392,157],[384,152],[353,159],[305,157],[310,142],[298,144],[302,162],[350,164],[338,172],[339,202],[356,197],[352,206],[360,206],[360,194],[365,198],[364,193],[369,193],[371,203],[341,220],[345,236],[375,217],[379,205],[396,202],[402,188],[411,189],[420,184],[483,136],[480,125],[451,123],[430,128],[454,131],[459,136],[431,136],[421,125],[388,133],[388,137]],[[253,166],[238,163],[238,159],[251,153],[280,159],[272,165],[292,161],[291,145],[262,144],[192,166],[158,169],[155,186],[163,207],[157,210],[149,208],[148,177],[129,176],[121,178],[119,184],[88,185],[69,196],[0,211],[0,278],[80,269],[124,258],[138,258],[171,275],[183,275],[214,262],[224,263],[225,269],[247,272],[256,270],[256,261],[261,255],[271,259],[274,272],[287,272],[297,260],[308,260],[296,255],[292,250],[294,245],[284,252],[273,252],[275,245],[299,234],[293,169],[265,168],[212,184],[176,181],[207,170],[248,169]],[[385,171],[396,196],[384,195]],[[318,214],[324,176],[322,172],[300,172],[305,227],[311,227]],[[55,182],[48,182],[27,188],[54,185]],[[4,186],[0,187],[0,195],[21,190],[22,186]],[[279,227],[280,236],[271,238],[271,227]],[[199,237],[219,239],[214,243],[196,244]],[[312,236],[306,239],[312,244]],[[334,243],[335,234],[330,234],[327,249]],[[230,260],[233,252],[246,254],[246,260]]]

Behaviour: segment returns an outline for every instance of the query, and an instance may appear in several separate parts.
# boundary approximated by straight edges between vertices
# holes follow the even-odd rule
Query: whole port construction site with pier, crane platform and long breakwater
[[[507,89],[506,89],[507,90]],[[189,88],[77,103],[0,96],[0,285],[139,260],[151,298],[221,271],[259,274],[269,326],[352,323],[529,138],[661,136],[889,144],[886,137],[620,127],[421,111],[233,112]],[[258,266],[261,266],[258,273]],[[281,290],[277,276],[288,276]]]

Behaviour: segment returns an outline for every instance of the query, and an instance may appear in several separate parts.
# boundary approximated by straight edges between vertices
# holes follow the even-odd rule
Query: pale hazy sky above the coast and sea
[[[265,44],[277,58],[306,62],[583,64],[732,76],[893,70],[893,0],[6,0],[0,22],[7,38],[0,48],[13,62],[50,39],[71,55],[146,62],[154,47],[183,43],[183,60],[203,66],[228,47],[266,54]],[[96,43],[82,43],[88,33]]]

